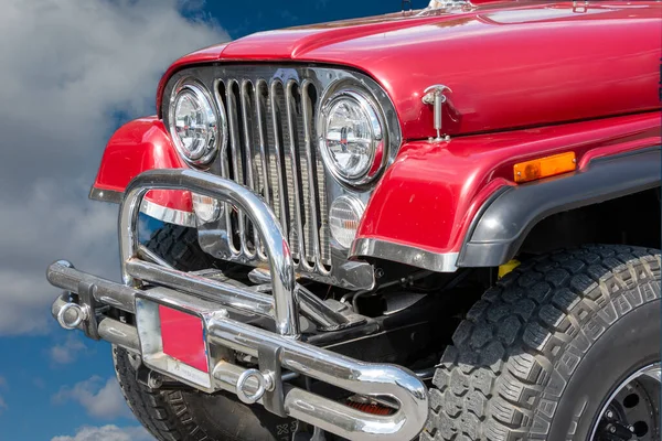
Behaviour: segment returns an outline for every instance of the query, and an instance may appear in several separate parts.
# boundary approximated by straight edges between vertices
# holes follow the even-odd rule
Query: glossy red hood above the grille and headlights
[[[659,108],[662,4],[579,4],[502,2],[260,32],[182,57],[161,84],[205,62],[351,66],[386,89],[405,139],[434,135],[420,103],[434,84],[452,89],[449,135]]]

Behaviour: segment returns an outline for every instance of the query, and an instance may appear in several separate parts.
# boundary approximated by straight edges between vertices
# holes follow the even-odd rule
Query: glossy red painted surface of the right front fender
[[[574,151],[585,168],[589,159],[660,146],[660,114],[650,112],[406,143],[377,184],[357,238],[458,251],[482,203],[500,186],[514,185],[516,162]]]

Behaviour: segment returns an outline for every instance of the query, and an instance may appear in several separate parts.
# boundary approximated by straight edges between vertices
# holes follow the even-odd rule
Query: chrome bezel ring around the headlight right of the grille
[[[373,135],[370,162],[366,170],[359,175],[349,175],[339,169],[332,158],[327,142],[329,119],[334,106],[342,100],[354,101],[367,117]],[[320,99],[317,118],[318,146],[327,170],[343,186],[352,190],[365,190],[380,178],[389,161],[389,126],[380,104],[371,90],[354,83],[344,80],[329,85]]]

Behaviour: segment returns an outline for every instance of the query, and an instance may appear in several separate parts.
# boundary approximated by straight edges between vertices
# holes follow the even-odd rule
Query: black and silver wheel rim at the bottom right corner
[[[609,396],[591,430],[592,441],[660,440],[660,363],[642,367]]]

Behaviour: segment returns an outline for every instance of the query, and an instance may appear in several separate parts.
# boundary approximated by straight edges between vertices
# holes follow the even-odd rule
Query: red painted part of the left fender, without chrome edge
[[[138,174],[153,169],[181,169],[163,122],[156,117],[136,119],[120,127],[108,141],[94,186],[124,193]],[[150,191],[146,200],[167,208],[192,212],[191,194],[184,191]]]

